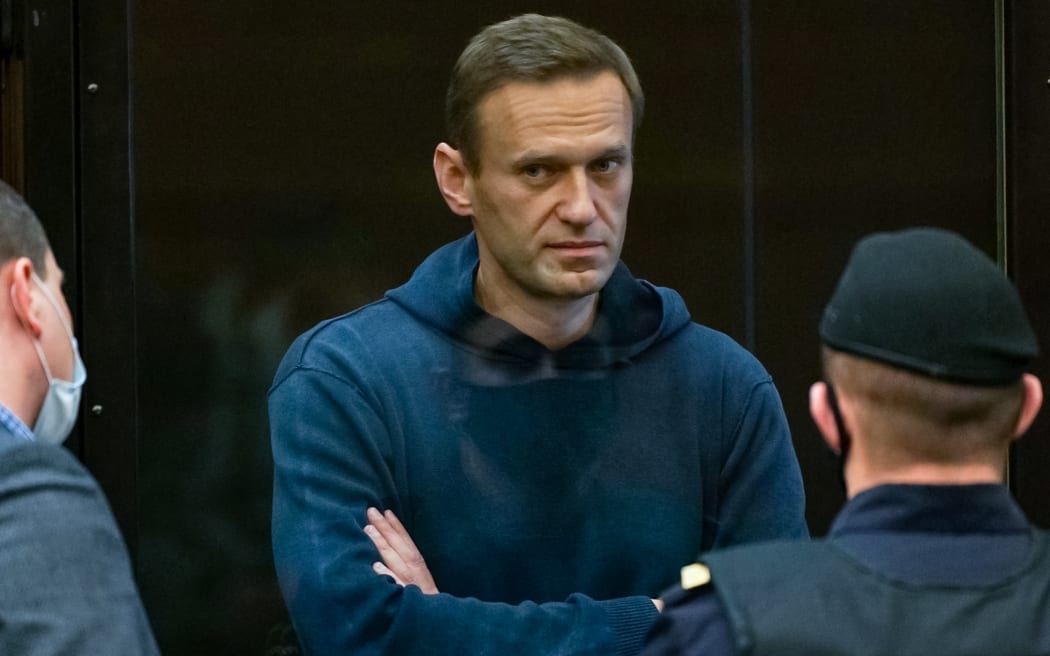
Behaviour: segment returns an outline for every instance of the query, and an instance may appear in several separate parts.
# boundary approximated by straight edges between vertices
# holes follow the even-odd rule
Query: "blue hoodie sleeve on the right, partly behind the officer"
[[[805,493],[780,395],[765,376],[750,388],[723,444],[712,548],[806,538]]]

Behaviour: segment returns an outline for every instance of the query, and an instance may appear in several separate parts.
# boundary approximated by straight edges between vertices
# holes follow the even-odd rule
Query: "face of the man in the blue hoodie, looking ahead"
[[[481,294],[529,302],[598,292],[620,259],[633,175],[620,78],[512,82],[478,119],[480,167],[466,193]]]

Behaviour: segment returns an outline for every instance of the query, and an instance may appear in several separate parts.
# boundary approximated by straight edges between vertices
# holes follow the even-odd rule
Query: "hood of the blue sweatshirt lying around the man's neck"
[[[690,322],[685,301],[675,291],[639,280],[618,262],[598,297],[594,325],[583,338],[552,352],[478,305],[474,298],[477,270],[478,242],[470,233],[432,253],[386,298],[487,357],[533,365],[544,362],[559,369],[626,363]]]

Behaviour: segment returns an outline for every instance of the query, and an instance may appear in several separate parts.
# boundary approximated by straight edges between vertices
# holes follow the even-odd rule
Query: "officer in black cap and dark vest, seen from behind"
[[[1050,533],[1003,485],[1043,402],[1014,288],[951,232],[872,235],[820,337],[848,502],[824,539],[684,568],[645,654],[1050,654]]]

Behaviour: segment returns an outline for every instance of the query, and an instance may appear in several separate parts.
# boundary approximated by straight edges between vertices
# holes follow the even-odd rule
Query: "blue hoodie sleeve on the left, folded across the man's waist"
[[[382,419],[349,380],[300,365],[278,371],[269,407],[274,562],[306,654],[640,650],[657,615],[644,596],[508,605],[424,595],[377,575],[365,509],[390,507],[398,494]]]

